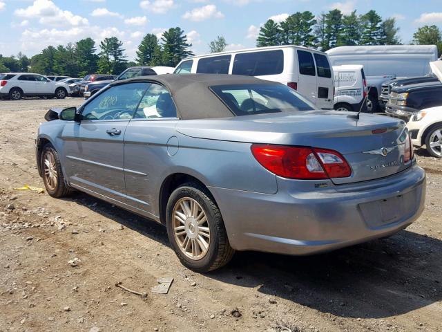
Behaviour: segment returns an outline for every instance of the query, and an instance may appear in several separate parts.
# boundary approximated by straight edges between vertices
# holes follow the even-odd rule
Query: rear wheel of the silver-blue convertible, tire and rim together
[[[198,216],[201,221],[191,215]],[[227,238],[220,209],[208,190],[198,183],[185,183],[172,192],[166,207],[166,228],[175,254],[191,270],[200,273],[215,270],[229,263],[235,253]]]

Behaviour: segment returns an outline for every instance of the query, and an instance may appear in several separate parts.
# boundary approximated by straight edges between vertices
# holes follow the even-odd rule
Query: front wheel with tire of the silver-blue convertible
[[[73,190],[66,185],[57,151],[49,143],[43,147],[40,158],[44,187],[49,196],[61,198]]]

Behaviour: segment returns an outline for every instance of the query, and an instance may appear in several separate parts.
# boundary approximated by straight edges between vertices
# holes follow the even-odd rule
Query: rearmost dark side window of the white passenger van
[[[233,60],[232,74],[236,75],[276,75],[284,70],[284,52],[269,50],[266,52],[240,53]]]

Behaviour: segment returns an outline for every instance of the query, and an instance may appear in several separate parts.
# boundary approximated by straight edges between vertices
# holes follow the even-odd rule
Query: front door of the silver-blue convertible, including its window
[[[64,165],[73,187],[125,203],[124,133],[147,86],[111,86],[80,107],[80,122],[66,125]]]

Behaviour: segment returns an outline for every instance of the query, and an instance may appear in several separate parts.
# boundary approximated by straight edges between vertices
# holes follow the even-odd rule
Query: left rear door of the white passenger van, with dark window
[[[299,82],[298,92],[305,98],[317,105],[317,82],[316,69],[313,55],[308,50],[297,50]]]

